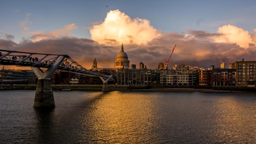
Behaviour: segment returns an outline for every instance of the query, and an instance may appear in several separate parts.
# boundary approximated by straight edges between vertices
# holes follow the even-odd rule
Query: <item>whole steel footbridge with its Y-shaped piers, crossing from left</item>
[[[108,91],[108,81],[114,80],[112,75],[87,70],[69,55],[19,52],[0,49],[0,65],[16,65],[30,67],[38,78],[34,107],[55,107],[52,85],[50,82],[56,70],[70,73],[96,76],[103,81],[102,91]]]

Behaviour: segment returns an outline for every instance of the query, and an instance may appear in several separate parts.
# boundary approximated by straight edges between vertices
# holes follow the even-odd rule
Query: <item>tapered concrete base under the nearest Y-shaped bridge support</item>
[[[38,79],[34,107],[55,107],[50,79]]]

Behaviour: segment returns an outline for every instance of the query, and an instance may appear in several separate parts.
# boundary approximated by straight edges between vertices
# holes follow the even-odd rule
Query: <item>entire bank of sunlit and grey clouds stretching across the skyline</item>
[[[91,67],[94,56],[98,67],[113,68],[121,42],[124,42],[130,64],[139,65],[139,62],[144,62],[152,69],[159,62],[164,62],[175,44],[177,47],[169,67],[185,63],[207,68],[210,65],[219,67],[221,62],[229,63],[229,59],[232,62],[239,61],[242,57],[246,61],[255,60],[256,30],[249,34],[234,25],[224,25],[216,33],[195,30],[187,33],[158,33],[148,20],[138,19],[131,19],[125,13],[114,10],[107,14],[101,24],[91,27],[92,39],[70,37],[70,31],[77,27],[69,24],[49,33],[29,31],[32,36],[23,39],[21,43],[0,39],[0,47],[27,52],[68,54],[85,68]],[[145,21],[148,21],[147,24]],[[148,37],[142,37],[142,34]]]

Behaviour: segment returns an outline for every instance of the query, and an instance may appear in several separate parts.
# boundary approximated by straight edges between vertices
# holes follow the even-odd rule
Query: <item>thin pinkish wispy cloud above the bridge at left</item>
[[[50,33],[45,33],[43,31],[31,31],[29,34],[32,36],[30,37],[33,42],[38,42],[40,40],[45,40],[45,39],[55,39],[59,37],[66,37],[70,36],[70,31],[75,30],[78,27],[76,27],[76,24],[69,24],[61,28],[60,30],[53,30]]]

